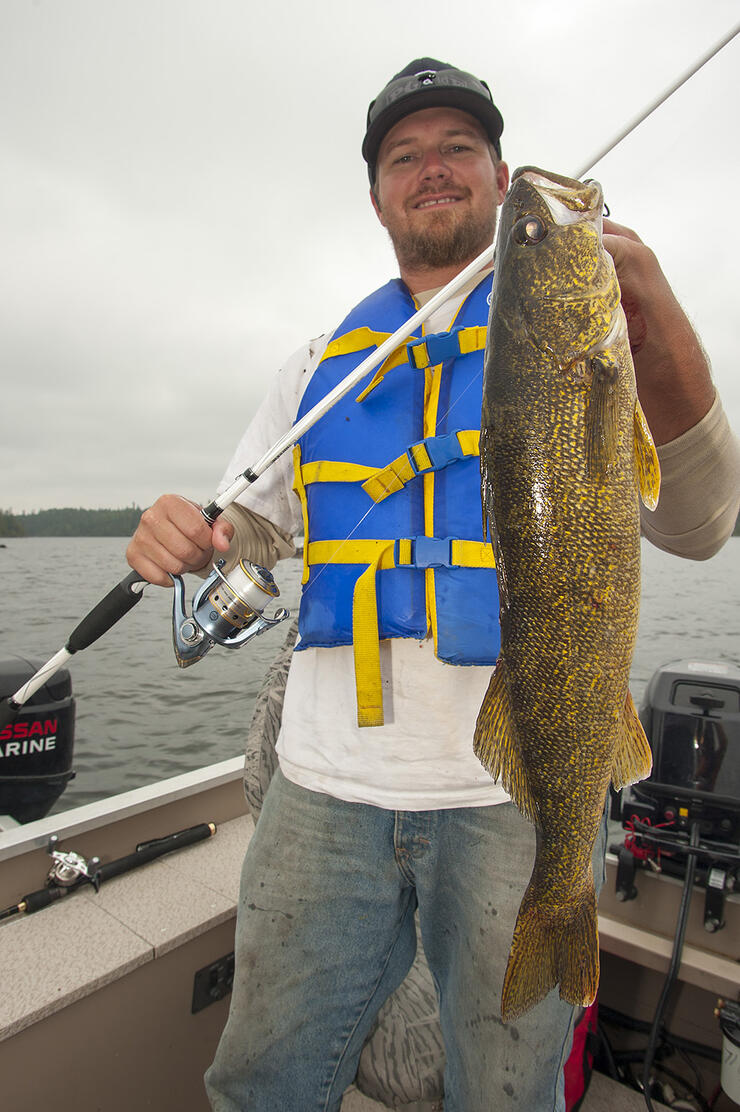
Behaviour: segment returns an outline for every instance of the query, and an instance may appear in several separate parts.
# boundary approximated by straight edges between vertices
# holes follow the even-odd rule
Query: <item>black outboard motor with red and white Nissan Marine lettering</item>
[[[0,659],[0,697],[18,691],[41,662]],[[75,699],[67,668],[52,675],[0,731],[0,815],[43,818],[75,776]]]

